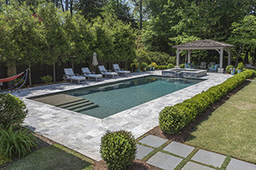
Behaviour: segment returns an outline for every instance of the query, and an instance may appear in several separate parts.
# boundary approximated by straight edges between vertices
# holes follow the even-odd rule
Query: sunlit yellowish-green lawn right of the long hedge
[[[256,163],[256,82],[201,122],[185,144]]]

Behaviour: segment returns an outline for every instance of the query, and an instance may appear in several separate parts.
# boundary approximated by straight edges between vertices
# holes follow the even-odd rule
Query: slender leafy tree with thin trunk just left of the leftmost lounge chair
[[[44,51],[42,63],[53,65],[55,82],[55,63],[60,61],[67,48],[67,41],[61,27],[61,10],[53,3],[41,3],[38,5],[35,17],[41,20],[42,39]]]

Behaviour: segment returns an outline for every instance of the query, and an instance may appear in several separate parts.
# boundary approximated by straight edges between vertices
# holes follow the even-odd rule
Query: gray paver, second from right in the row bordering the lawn
[[[216,154],[207,150],[198,150],[192,160],[199,161],[201,163],[212,165],[214,167],[221,167],[226,156]]]

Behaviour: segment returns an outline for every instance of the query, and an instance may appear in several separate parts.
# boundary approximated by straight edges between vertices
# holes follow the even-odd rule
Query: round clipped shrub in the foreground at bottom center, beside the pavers
[[[102,136],[100,153],[109,169],[125,169],[135,159],[137,145],[131,132],[124,130]]]

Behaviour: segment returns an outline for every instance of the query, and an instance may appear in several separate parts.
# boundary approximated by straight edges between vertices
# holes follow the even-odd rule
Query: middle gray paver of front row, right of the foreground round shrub
[[[169,154],[166,153],[162,153],[162,152],[157,152],[154,156],[152,156],[147,163],[151,164],[155,167],[160,167],[162,169],[166,169],[166,170],[172,170],[175,167],[177,167],[177,165],[183,161],[183,159],[176,157],[176,156],[171,156]]]

